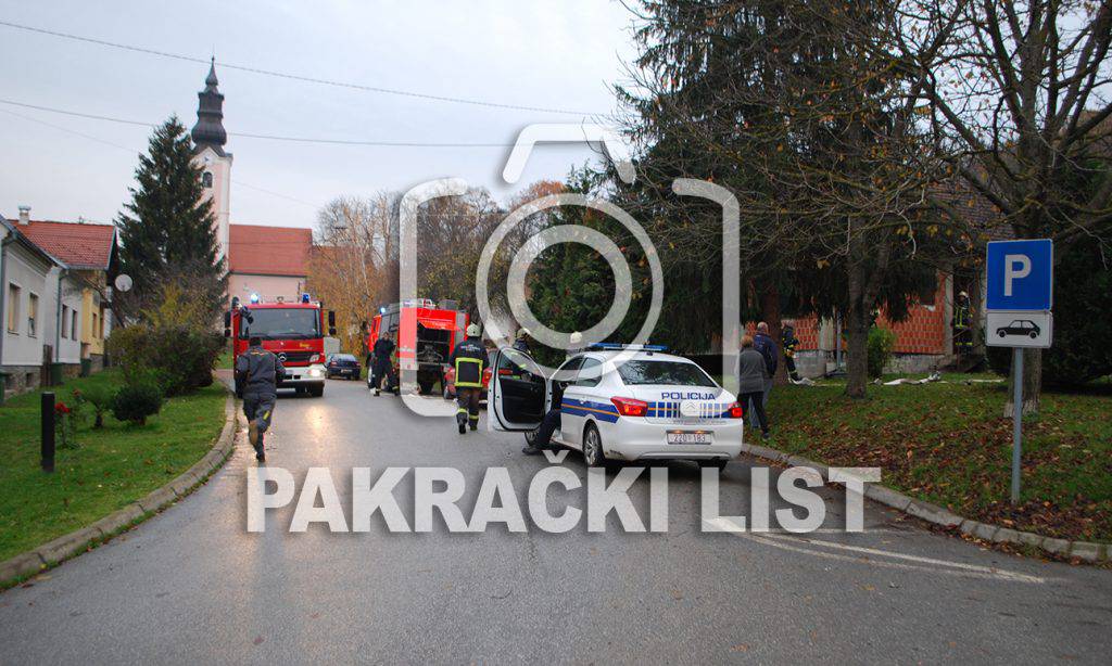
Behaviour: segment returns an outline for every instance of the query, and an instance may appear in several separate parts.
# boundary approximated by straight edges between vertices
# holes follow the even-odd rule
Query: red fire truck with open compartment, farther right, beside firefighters
[[[444,366],[464,339],[467,321],[467,313],[450,302],[439,307],[429,299],[390,303],[379,307],[370,321],[367,349],[373,349],[383,333],[389,335],[397,350],[394,376],[400,376],[403,384],[407,379],[416,381],[421,393],[431,393],[437,382],[443,383]]]

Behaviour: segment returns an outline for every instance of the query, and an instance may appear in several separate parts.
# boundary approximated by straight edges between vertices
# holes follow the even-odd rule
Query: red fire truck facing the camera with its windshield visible
[[[262,339],[262,347],[274,352],[286,366],[279,389],[320,397],[325,394],[325,311],[320,303],[301,294],[298,302],[278,300],[260,303],[252,295],[250,303],[231,300],[231,310],[224,313],[224,335],[232,339],[235,357],[247,351],[249,339]],[[336,334],[336,313],[328,311],[328,335]],[[239,386],[236,386],[239,392]]]

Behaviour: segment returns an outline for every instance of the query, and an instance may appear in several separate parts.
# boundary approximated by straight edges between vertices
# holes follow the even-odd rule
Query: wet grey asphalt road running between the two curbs
[[[548,461],[483,427],[460,436],[450,421],[331,381],[324,398],[279,400],[268,464],[299,484],[308,467],[329,467],[348,519],[357,466],[373,477],[458,468],[465,515],[483,473],[504,466],[527,506]],[[563,464],[586,477],[576,454]],[[254,465],[241,442],[189,498],[0,594],[0,663],[1106,664],[1112,649],[1112,572],[982,549],[871,504],[864,534],[840,533],[836,490],[824,491],[825,528],[806,536],[702,532],[686,464],[668,465],[665,534],[627,534],[616,519],[605,533],[582,521],[565,534],[450,534],[443,523],[391,534],[378,516],[369,533],[290,534],[292,504],[249,534]],[[722,513],[748,513],[754,466],[729,465]],[[410,522],[413,487],[410,473],[395,493]],[[647,488],[631,492],[641,509]],[[549,502],[553,513],[583,507],[584,492]]]

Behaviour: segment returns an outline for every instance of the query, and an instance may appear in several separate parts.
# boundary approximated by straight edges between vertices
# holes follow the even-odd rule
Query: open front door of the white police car
[[[492,360],[487,430],[532,431],[545,417],[548,380],[528,354],[513,347],[495,352]]]

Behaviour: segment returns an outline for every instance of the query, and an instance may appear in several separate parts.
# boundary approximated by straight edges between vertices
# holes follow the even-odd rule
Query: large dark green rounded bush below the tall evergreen
[[[224,344],[217,331],[188,324],[132,324],[112,331],[108,339],[109,354],[122,369],[125,382],[141,383],[152,374],[166,395],[211,384]]]

